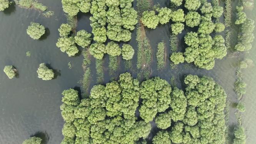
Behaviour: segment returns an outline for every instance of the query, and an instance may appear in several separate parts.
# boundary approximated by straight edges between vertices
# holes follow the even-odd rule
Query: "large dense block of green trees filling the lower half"
[[[74,89],[65,90],[62,144],[134,144],[148,137],[150,121],[162,129],[153,144],[224,143],[224,90],[205,76],[188,75],[185,83],[183,93],[158,77],[140,84],[124,73],[118,81],[93,86],[85,99],[80,100]],[[135,116],[137,108],[141,120]]]

